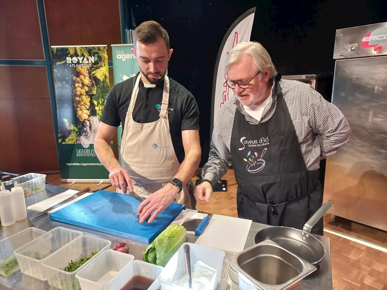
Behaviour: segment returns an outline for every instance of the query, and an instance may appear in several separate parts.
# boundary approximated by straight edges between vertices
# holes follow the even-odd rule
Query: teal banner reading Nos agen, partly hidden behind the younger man
[[[137,58],[132,52],[133,44],[111,44],[111,51],[113,54],[113,77],[114,84],[118,84],[134,77],[140,72],[140,67],[137,63]],[[121,163],[121,136],[122,125],[117,129],[118,137],[118,161]]]

